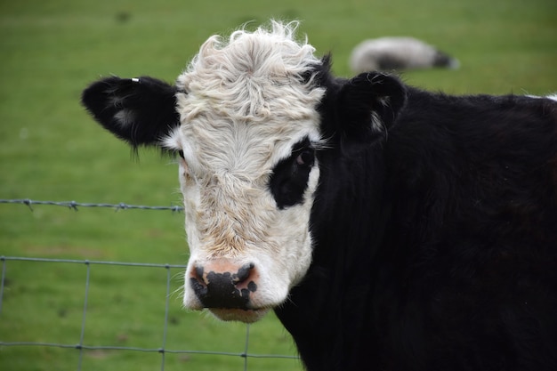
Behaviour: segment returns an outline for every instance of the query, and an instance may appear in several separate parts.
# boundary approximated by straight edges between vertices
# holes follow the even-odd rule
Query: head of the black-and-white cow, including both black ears
[[[220,319],[253,322],[287,300],[311,264],[322,151],[372,141],[405,100],[393,77],[330,77],[327,59],[295,41],[296,26],[213,36],[175,85],[109,77],[83,93],[93,117],[134,148],[179,155],[184,304]]]

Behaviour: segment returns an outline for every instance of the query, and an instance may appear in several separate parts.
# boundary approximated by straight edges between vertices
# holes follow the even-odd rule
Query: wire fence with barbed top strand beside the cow
[[[32,206],[43,205],[43,206],[63,206],[71,210],[77,211],[81,207],[106,207],[114,210],[126,210],[126,209],[141,209],[141,210],[166,210],[171,212],[182,212],[181,206],[137,206],[128,205],[125,203],[119,204],[94,204],[94,203],[79,203],[76,201],[39,201],[31,200],[28,198],[24,199],[0,199],[0,204],[21,204],[28,206],[31,211],[33,211]],[[294,355],[284,355],[284,354],[261,354],[261,353],[250,353],[249,352],[249,340],[250,340],[250,327],[246,325],[246,335],[245,344],[243,351],[196,351],[196,350],[180,350],[171,349],[166,344],[167,333],[169,323],[169,308],[170,308],[170,298],[172,296],[171,281],[173,274],[171,270],[185,270],[186,265],[181,264],[157,264],[157,263],[144,263],[144,262],[111,262],[111,261],[97,261],[97,260],[78,260],[78,259],[52,259],[44,257],[26,257],[26,256],[0,256],[0,264],[2,265],[2,276],[0,281],[0,321],[2,320],[2,314],[4,310],[4,290],[6,288],[6,283],[8,282],[7,277],[12,265],[15,262],[20,262],[24,264],[50,264],[50,263],[62,263],[69,265],[82,266],[85,270],[85,282],[84,284],[84,302],[83,302],[83,312],[81,315],[80,324],[80,335],[77,343],[61,343],[61,342],[48,342],[48,341],[9,341],[6,340],[6,334],[0,334],[0,350],[4,347],[45,347],[45,348],[62,348],[62,349],[73,349],[78,352],[77,359],[77,371],[81,371],[84,362],[84,352],[85,351],[136,351],[136,352],[148,352],[148,353],[158,353],[160,354],[160,370],[165,370],[165,356],[167,354],[205,354],[214,356],[227,356],[236,357],[243,359],[243,369],[246,371],[248,368],[248,359],[298,359]],[[93,268],[99,266],[110,266],[110,267],[120,267],[120,268],[130,268],[130,267],[141,267],[153,270],[165,270],[165,314],[163,320],[162,328],[162,341],[157,347],[134,347],[134,346],[118,346],[118,345],[91,345],[85,342],[86,333],[86,323],[88,314],[88,300],[89,292],[92,287],[92,270]],[[13,267],[15,268],[15,267]],[[132,309],[130,309],[132,311]],[[1,354],[1,351],[0,351]]]

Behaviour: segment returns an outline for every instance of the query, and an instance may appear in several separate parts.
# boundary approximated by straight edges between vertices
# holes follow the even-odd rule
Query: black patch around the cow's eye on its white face
[[[296,143],[291,155],[275,165],[270,175],[269,187],[278,208],[284,209],[302,203],[313,165],[315,149],[308,138]]]

